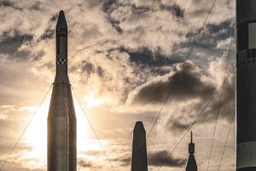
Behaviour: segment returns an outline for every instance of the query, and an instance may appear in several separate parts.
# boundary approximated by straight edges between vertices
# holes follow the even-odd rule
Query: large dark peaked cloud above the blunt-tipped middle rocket
[[[169,100],[190,100],[192,98],[207,98],[215,91],[210,83],[201,80],[201,73],[195,71],[195,66],[186,62],[166,81],[148,83],[140,88],[133,99],[135,104],[163,103],[171,91]]]

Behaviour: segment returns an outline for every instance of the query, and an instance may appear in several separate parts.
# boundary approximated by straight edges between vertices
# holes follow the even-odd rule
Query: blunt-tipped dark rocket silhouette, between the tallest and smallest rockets
[[[133,129],[131,171],[148,171],[146,131],[143,122]]]

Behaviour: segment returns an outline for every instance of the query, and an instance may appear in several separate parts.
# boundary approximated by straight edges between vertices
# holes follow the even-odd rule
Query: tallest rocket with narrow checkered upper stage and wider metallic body
[[[67,76],[67,22],[61,11],[56,25],[56,75],[47,119],[47,170],[77,170],[77,126]]]

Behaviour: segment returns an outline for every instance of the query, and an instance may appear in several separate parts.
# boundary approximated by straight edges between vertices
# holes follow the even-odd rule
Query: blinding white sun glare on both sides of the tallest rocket
[[[27,164],[36,166],[39,168],[46,167],[47,160],[47,116],[49,111],[48,105],[42,105],[38,110],[38,113],[33,118],[32,123],[26,130],[25,143],[32,147],[31,151],[26,151],[23,155],[28,161],[34,160],[38,162],[27,162]],[[26,110],[31,114],[35,112],[36,107],[26,107]],[[90,138],[90,126],[84,117],[83,110],[78,104],[75,103],[75,111],[77,117],[77,151],[78,156],[86,151],[101,151],[101,146],[97,140]],[[102,145],[104,142],[102,141]]]

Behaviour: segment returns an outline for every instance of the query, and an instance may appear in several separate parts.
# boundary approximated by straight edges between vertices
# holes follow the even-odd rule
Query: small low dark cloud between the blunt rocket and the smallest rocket
[[[183,167],[185,163],[186,159],[172,157],[168,151],[148,154],[148,165],[150,166]]]

